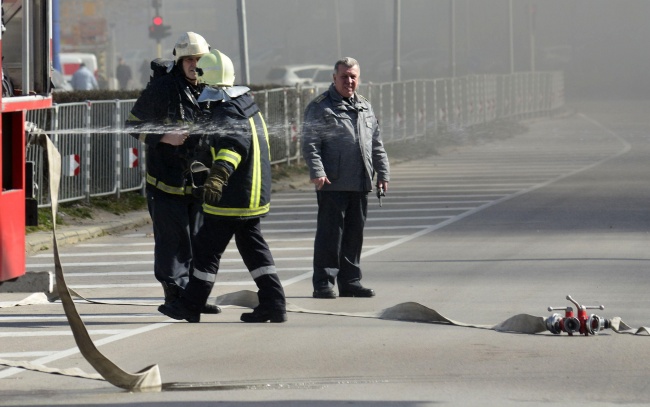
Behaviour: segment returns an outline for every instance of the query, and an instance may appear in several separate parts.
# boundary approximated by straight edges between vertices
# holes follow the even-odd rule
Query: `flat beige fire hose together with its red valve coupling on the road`
[[[48,156],[49,172],[50,172],[50,193],[52,199],[52,218],[56,220],[56,210],[58,205],[58,185],[60,180],[60,155],[54,145],[51,143],[47,135],[39,134],[35,141],[42,145]],[[381,195],[378,195],[381,198]],[[56,226],[56,225],[54,225]],[[105,357],[99,352],[97,347],[91,340],[86,327],[81,320],[75,308],[73,297],[79,297],[84,300],[86,298],[78,295],[73,290],[67,287],[64,279],[63,268],[59,259],[56,227],[53,228],[53,248],[54,248],[54,261],[55,261],[55,274],[56,286],[59,298],[63,304],[66,316],[68,318],[71,330],[73,332],[75,341],[81,354],[99,373],[87,374],[79,371],[59,370],[45,366],[38,366],[28,362],[12,362],[0,360],[0,364],[5,366],[19,367],[23,369],[42,371],[47,373],[65,374],[71,376],[86,377],[92,379],[104,379],[111,384],[125,388],[128,390],[142,390],[142,389],[156,389],[160,388],[161,376],[157,365],[149,366],[142,371],[132,374],[125,372],[119,368],[115,363]],[[26,299],[14,304],[0,304],[3,306],[17,306],[28,305],[36,303],[37,301],[48,301],[45,294],[33,295],[31,299]],[[489,329],[497,332],[510,332],[510,333],[524,333],[524,334],[538,334],[551,332],[552,334],[567,333],[570,336],[573,334],[580,335],[595,335],[604,329],[611,329],[616,333],[632,334],[632,335],[650,335],[650,328],[640,327],[632,328],[625,324],[619,317],[611,319],[604,319],[598,315],[587,313],[588,309],[603,310],[603,306],[584,306],[567,296],[567,300],[577,307],[577,315],[574,313],[572,307],[549,307],[549,312],[554,310],[563,310],[564,315],[554,313],[550,317],[540,317],[528,314],[515,315],[496,325],[476,325],[467,324],[459,321],[449,319],[439,314],[434,309],[428,308],[416,302],[405,302],[395,306],[385,308],[376,312],[365,313],[346,313],[346,312],[331,312],[321,310],[310,310],[299,307],[295,304],[287,304],[287,311],[297,313],[310,313],[320,315],[332,315],[343,317],[360,317],[360,318],[376,318],[383,320],[405,321],[405,322],[418,322],[430,324],[443,324],[454,325],[460,327],[470,327],[479,329]],[[92,303],[108,304],[100,301],[87,300]],[[110,304],[118,304],[111,302]],[[258,305],[257,294],[253,291],[237,291],[229,293],[217,298],[217,304],[221,306],[236,306],[254,308]],[[120,305],[124,305],[120,303]],[[143,305],[143,304],[132,304]]]

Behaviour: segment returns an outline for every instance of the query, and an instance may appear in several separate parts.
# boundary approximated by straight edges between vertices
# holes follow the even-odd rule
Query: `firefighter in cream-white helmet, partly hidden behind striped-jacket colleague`
[[[197,98],[205,87],[198,82],[196,64],[210,51],[199,34],[183,33],[174,45],[173,60],[154,76],[136,101],[126,122],[133,137],[146,147],[146,191],[154,230],[154,275],[163,286],[165,302],[183,291],[194,264],[194,239],[203,223],[201,197],[192,194],[189,163],[196,137],[188,128],[207,109]],[[164,66],[152,61],[152,69]],[[216,314],[219,307],[205,304],[201,312]]]

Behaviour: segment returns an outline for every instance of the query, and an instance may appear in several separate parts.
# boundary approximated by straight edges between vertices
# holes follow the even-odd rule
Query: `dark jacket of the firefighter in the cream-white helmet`
[[[189,164],[199,137],[188,137],[181,146],[160,143],[166,132],[191,126],[205,104],[196,100],[204,85],[185,80],[178,66],[149,83],[131,109],[126,128],[146,146],[147,187],[172,195],[191,193]]]

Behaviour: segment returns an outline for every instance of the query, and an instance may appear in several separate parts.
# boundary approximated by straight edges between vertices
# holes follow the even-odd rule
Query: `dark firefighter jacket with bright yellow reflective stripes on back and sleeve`
[[[217,206],[203,204],[206,215],[253,218],[269,212],[271,158],[266,123],[250,94],[212,104],[206,127],[211,157],[230,176]]]

